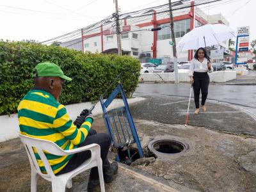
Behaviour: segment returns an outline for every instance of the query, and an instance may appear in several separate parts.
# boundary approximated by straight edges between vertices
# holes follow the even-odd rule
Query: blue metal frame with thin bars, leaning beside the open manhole
[[[128,124],[129,124],[129,127],[131,128],[131,133],[132,133],[132,137],[133,137],[133,141],[131,142],[131,138],[130,138],[129,131],[128,131],[127,126],[126,126],[124,114],[123,114],[123,112],[121,110],[122,117],[124,118],[124,127],[126,129],[128,137],[130,138],[129,143],[127,143],[127,142],[120,143],[120,140],[118,141],[118,143],[116,143],[115,133],[113,132],[113,129],[116,129],[115,118],[112,116],[113,122],[114,122],[114,127],[111,127],[111,120],[109,118],[108,111],[107,111],[108,106],[116,98],[118,93],[121,93],[122,99],[124,101],[124,109],[125,109],[125,113],[127,114]],[[104,102],[103,98],[100,97],[100,103],[101,103],[101,106],[102,106],[104,122],[106,124],[107,129],[108,129],[108,133],[111,135],[114,147],[118,148],[118,147],[122,147],[122,146],[127,145],[127,144],[136,143],[137,147],[138,147],[138,152],[140,154],[140,157],[143,157],[144,154],[143,154],[143,150],[142,150],[142,147],[141,147],[140,139],[138,137],[138,133],[136,131],[136,127],[135,127],[134,122],[132,120],[131,111],[129,109],[129,105],[128,105],[128,102],[127,102],[127,99],[126,99],[125,92],[124,92],[124,89],[122,87],[122,84],[118,84],[118,86],[116,86],[115,90],[109,95],[108,99],[106,99],[105,102]],[[116,112],[116,109],[115,109],[115,112]],[[117,112],[116,112],[116,115],[117,115]],[[122,138],[125,141],[124,130],[122,128],[122,124],[120,123],[120,119],[119,118],[118,118],[118,124],[120,125],[120,127],[122,129],[121,130],[122,131]],[[116,134],[118,134],[117,130],[116,130]],[[119,135],[118,135],[118,138],[120,138]],[[120,159],[118,157],[118,154],[116,156],[116,161],[120,161]]]

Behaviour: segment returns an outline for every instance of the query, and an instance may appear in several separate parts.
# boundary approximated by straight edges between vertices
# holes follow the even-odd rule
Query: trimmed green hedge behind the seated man
[[[60,65],[73,79],[63,87],[62,104],[98,100],[120,72],[120,79],[103,96],[108,97],[118,81],[129,96],[140,76],[140,62],[130,56],[83,54],[35,42],[0,41],[0,115],[17,112],[20,99],[33,87],[33,68],[43,61]]]

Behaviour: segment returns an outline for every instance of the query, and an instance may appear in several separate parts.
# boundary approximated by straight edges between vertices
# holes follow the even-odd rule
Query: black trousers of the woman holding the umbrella
[[[194,79],[194,83],[193,83],[194,99],[195,99],[196,109],[198,109],[200,90],[202,93],[201,104],[202,106],[204,106],[205,100],[207,99],[207,95],[208,95],[208,86],[210,83],[210,78],[207,72],[194,72],[193,79]]]

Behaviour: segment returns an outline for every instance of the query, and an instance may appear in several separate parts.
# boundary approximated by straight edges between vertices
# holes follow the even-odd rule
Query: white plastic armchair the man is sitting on
[[[26,152],[28,153],[29,162],[31,165],[31,191],[36,191],[36,175],[41,175],[44,179],[49,180],[52,182],[52,191],[59,192],[65,191],[65,187],[72,188],[72,178],[78,175],[79,173],[88,170],[94,166],[98,167],[99,171],[99,179],[100,179],[100,189],[101,191],[105,191],[104,188],[104,179],[103,179],[103,172],[102,172],[102,160],[100,158],[100,146],[98,144],[91,144],[84,147],[75,148],[72,150],[62,150],[58,145],[51,141],[40,140],[36,138],[31,138],[28,136],[24,136],[19,134],[20,140],[24,144],[26,148]],[[38,155],[42,159],[45,169],[47,171],[46,174],[42,173],[38,163],[36,161],[35,154],[33,152],[33,148],[36,148]],[[43,150],[54,154],[56,156],[67,156],[70,154],[76,154],[78,152],[83,152],[84,150],[90,150],[92,157],[84,161],[78,168],[75,170],[64,173],[61,175],[54,175],[52,172],[52,168],[43,152]]]

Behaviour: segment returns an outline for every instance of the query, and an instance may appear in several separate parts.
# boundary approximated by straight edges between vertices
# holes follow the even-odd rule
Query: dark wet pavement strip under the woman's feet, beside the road
[[[136,94],[146,99],[132,106],[133,118],[153,120],[161,124],[185,124],[188,110],[188,98],[168,95]],[[206,112],[194,114],[193,99],[189,110],[188,124],[202,126],[216,131],[232,132],[256,137],[256,119],[251,114],[244,113],[242,109],[233,105],[220,104],[215,100],[207,102]]]

